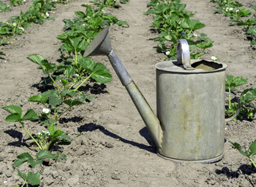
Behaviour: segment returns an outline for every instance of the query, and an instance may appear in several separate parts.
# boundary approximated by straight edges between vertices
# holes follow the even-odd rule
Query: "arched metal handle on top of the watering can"
[[[177,65],[183,65],[187,70],[193,70],[190,63],[189,44],[186,39],[177,42]]]

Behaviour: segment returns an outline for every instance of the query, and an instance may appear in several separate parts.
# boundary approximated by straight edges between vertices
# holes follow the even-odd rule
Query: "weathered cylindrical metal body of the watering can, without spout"
[[[211,62],[192,60],[191,64]],[[174,62],[157,69],[157,118],[163,129],[160,157],[175,162],[219,161],[224,150],[225,64],[188,71]]]

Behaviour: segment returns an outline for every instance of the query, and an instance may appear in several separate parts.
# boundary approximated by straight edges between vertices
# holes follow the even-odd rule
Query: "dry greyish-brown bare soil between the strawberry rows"
[[[88,1],[76,0],[68,5],[59,5],[52,13],[55,21],[47,21],[34,26],[26,34],[14,37],[11,44],[1,47],[5,59],[0,59],[0,107],[19,104],[24,109],[34,108],[40,112],[41,106],[29,103],[28,97],[38,94],[36,85],[44,76],[27,56],[43,55],[49,62],[59,58],[60,42],[56,39],[63,31],[63,19],[74,18],[74,11],[82,10],[81,4]],[[146,12],[146,0],[130,0],[121,9],[106,9],[118,19],[125,20],[127,27],[111,26],[111,43],[142,94],[156,111],[156,83],[154,64],[163,60],[157,54],[157,34],[150,32],[152,16]],[[214,15],[214,5],[210,1],[186,0],[186,9],[195,13],[206,27],[204,32],[214,47],[204,58],[217,56],[228,64],[227,73],[247,77],[247,87],[256,87],[256,52],[250,47],[242,28],[229,26],[229,19]],[[250,7],[254,1],[241,1]],[[26,9],[26,5],[22,7]],[[17,15],[20,9],[0,14],[5,21]],[[41,171],[40,186],[254,186],[256,169],[246,157],[233,149],[229,140],[239,142],[243,148],[255,139],[255,119],[251,122],[228,122],[225,128],[225,157],[214,164],[175,164],[157,156],[156,146],[146,130],[142,118],[132,100],[121,85],[106,57],[97,57],[113,74],[112,83],[105,86],[91,85],[90,92],[96,97],[91,103],[74,108],[64,116],[61,129],[71,137],[72,143],[60,146],[67,154],[61,163],[37,166]],[[246,86],[243,86],[243,89]],[[35,146],[29,136],[17,123],[7,123],[5,111],[0,112],[0,186],[22,184],[13,169],[16,156],[24,151],[34,153]],[[36,123],[27,123],[32,133],[44,129]],[[78,132],[83,132],[78,136]],[[20,171],[26,171],[20,166]]]

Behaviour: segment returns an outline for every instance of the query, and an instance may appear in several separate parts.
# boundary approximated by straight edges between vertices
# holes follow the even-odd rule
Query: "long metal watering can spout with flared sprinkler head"
[[[128,74],[124,68],[124,65],[112,50],[109,37],[109,27],[102,30],[85,51],[85,56],[95,55],[106,55],[109,58],[111,65],[117,73],[117,76],[121,80],[123,86],[125,86],[128,94],[135,104],[135,107],[142,116],[147,129],[150,131],[153,141],[156,143],[158,150],[160,150],[163,137],[163,130],[161,129],[160,122],[150,108],[150,105],[142,96],[139,88],[133,82],[132,77]]]

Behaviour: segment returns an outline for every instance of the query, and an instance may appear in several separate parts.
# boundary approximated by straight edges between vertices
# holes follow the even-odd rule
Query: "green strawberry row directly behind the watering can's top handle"
[[[176,44],[179,39],[186,39],[189,43],[191,58],[200,58],[207,48],[211,48],[213,41],[206,34],[196,34],[197,30],[204,28],[204,23],[197,19],[190,19],[193,13],[186,11],[186,4],[180,0],[151,0],[150,9],[145,15],[153,14],[153,27],[160,34],[157,51],[163,52],[172,60],[176,58]]]

